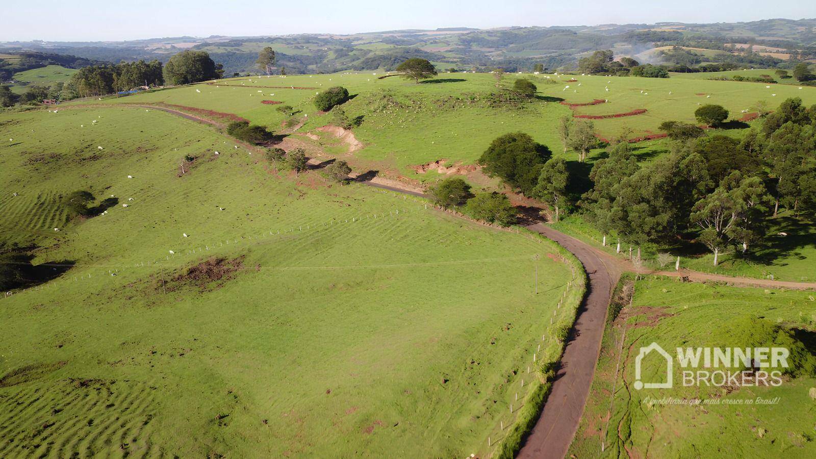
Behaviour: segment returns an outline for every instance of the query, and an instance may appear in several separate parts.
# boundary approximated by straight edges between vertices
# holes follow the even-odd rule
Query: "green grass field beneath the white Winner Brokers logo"
[[[672,389],[633,387],[641,346],[790,346],[796,362],[813,365],[814,292],[763,290],[647,278],[634,299],[607,324],[601,359],[578,432],[575,457],[814,457],[816,375],[811,367],[781,385],[683,386],[680,365]],[[792,330],[794,337],[771,332]],[[793,351],[792,351],[793,354]],[[702,361],[702,360],[701,360]],[[793,361],[793,360],[792,360]],[[663,381],[661,359],[648,356],[646,381]],[[714,370],[714,368],[711,368]],[[734,369],[739,371],[739,369]],[[698,404],[665,404],[664,398]],[[778,398],[778,399],[777,399]],[[775,403],[762,404],[757,399]],[[752,403],[746,403],[746,400]]]

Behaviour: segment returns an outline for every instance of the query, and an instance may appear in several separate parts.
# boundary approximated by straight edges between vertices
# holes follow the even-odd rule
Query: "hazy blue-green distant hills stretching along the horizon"
[[[170,37],[123,42],[0,42],[0,52],[37,51],[115,63],[153,58],[166,61],[176,52],[201,49],[208,51],[216,62],[224,64],[228,75],[258,73],[255,58],[266,46],[277,51],[277,64],[286,67],[290,74],[393,69],[409,57],[422,57],[439,66],[457,69],[501,67],[516,71],[532,69],[536,64],[547,69],[571,69],[579,56],[598,49],[611,49],[618,57],[640,56],[654,64],[696,65],[728,61],[734,65],[768,67],[788,60],[816,59],[814,28],[816,19],[498,29],[455,27],[348,35],[309,33],[268,37]],[[685,54],[661,52],[670,47],[680,47],[677,49]]]

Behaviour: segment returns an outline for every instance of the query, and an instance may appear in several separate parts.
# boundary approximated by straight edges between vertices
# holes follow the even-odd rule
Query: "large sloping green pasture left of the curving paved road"
[[[0,298],[2,457],[485,457],[574,317],[555,244],[277,171],[202,124],[0,126],[0,240],[55,264]],[[118,202],[66,221],[77,189]],[[218,258],[223,278],[185,276]]]

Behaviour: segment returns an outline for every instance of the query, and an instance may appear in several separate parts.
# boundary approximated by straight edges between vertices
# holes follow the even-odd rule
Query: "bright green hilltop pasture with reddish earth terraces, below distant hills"
[[[759,100],[765,100],[770,106],[796,96],[807,105],[816,102],[816,87],[798,89],[791,85],[689,78],[506,74],[499,87],[508,87],[515,78],[532,78],[539,87],[539,97],[518,109],[486,105],[482,101],[468,103],[473,97],[484,100],[486,95],[497,91],[497,81],[492,74],[441,73],[420,84],[399,77],[379,79],[381,76],[380,72],[371,72],[229,78],[123,97],[114,103],[165,102],[211,109],[237,114],[276,130],[281,129],[289,117],[277,112],[276,105],[262,104],[262,100],[276,100],[298,109],[295,117],[306,120],[301,131],[309,131],[330,123],[328,117],[318,114],[312,105],[316,93],[328,87],[343,86],[354,96],[343,105],[346,114],[352,118],[362,117],[362,124],[354,129],[354,135],[366,147],[355,156],[404,176],[437,180],[438,174],[415,174],[411,166],[438,159],[448,159],[449,164],[475,163],[491,140],[510,131],[526,131],[554,154],[563,154],[556,127],[558,118],[567,114],[605,115],[647,110],[635,116],[593,120],[601,136],[611,138],[624,128],[632,130],[632,136],[659,133],[659,124],[666,120],[696,123],[694,110],[704,104],[723,105],[730,110],[732,119],[739,119]],[[568,82],[570,79],[577,81]],[[558,100],[608,102],[570,110],[557,103]],[[572,154],[568,154],[568,158],[572,159]]]

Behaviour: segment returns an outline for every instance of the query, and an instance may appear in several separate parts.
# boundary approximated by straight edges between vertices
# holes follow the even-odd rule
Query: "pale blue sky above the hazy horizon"
[[[736,22],[816,17],[813,0],[34,0],[9,2],[0,41],[357,33],[438,27]]]

